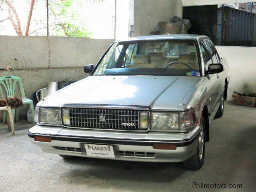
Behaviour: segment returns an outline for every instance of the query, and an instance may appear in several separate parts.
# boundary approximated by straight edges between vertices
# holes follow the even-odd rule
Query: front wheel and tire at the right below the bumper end
[[[198,146],[196,150],[196,154],[183,162],[183,166],[186,169],[190,170],[199,170],[204,164],[204,152],[205,152],[205,140],[206,132],[205,132],[205,122],[204,117],[201,119],[200,133],[198,137]]]

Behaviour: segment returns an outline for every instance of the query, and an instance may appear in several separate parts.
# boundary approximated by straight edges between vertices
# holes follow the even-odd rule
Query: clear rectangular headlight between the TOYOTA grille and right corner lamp
[[[179,130],[178,113],[152,112],[151,128],[154,131]]]

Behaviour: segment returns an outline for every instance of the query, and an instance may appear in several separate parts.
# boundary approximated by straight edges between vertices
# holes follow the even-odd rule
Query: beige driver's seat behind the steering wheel
[[[181,54],[179,56],[178,61],[182,61],[187,64],[190,64],[190,66],[193,69],[199,70],[196,54]],[[188,66],[186,66],[184,64],[176,63],[176,64],[171,65],[170,68],[188,69]]]

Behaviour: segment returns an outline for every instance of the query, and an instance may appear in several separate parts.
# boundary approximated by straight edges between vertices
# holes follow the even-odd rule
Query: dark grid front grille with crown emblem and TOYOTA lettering
[[[114,130],[142,130],[138,110],[70,108],[70,126]],[[146,129],[147,130],[147,129]]]

